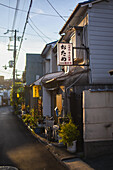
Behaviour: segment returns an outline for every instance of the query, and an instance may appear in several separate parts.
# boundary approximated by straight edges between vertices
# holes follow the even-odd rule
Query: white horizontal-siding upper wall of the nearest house
[[[93,4],[88,14],[91,83],[113,83],[113,0]]]

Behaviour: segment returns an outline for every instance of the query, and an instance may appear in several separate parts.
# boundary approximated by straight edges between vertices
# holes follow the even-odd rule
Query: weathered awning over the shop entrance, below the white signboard
[[[89,72],[89,69],[84,69],[82,67],[74,67],[70,72],[65,73],[63,71],[55,72],[55,73],[49,73],[41,77],[40,79],[36,80],[31,86],[33,85],[43,85],[48,90],[55,90],[60,85],[64,86],[70,86],[76,80],[79,81],[76,82],[76,84],[84,84],[84,82],[87,82],[87,73]],[[81,76],[83,75],[83,76]],[[80,78],[79,78],[80,77]]]

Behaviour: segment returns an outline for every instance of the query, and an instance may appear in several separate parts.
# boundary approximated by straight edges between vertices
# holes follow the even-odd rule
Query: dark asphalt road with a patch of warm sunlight
[[[0,166],[19,170],[64,170],[43,144],[37,141],[10,107],[0,108]]]

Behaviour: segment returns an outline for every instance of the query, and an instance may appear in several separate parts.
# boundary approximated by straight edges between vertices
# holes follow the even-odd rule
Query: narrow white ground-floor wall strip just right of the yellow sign
[[[43,116],[51,117],[51,95],[46,88],[43,87]]]

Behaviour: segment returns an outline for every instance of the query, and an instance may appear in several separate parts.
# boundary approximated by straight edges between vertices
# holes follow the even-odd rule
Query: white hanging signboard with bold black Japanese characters
[[[57,45],[57,65],[73,65],[72,43],[58,43]]]

